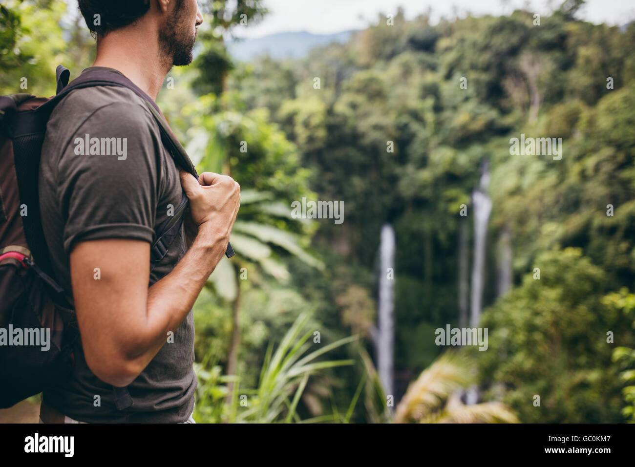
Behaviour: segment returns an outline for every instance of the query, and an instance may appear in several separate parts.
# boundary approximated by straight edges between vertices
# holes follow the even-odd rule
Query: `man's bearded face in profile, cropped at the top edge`
[[[192,63],[194,43],[203,22],[196,0],[174,0],[173,10],[159,28],[159,46],[173,65],[180,67]]]

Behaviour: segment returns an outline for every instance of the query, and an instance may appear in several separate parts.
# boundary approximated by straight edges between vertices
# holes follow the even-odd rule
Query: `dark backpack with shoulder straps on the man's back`
[[[51,269],[39,212],[39,161],[46,123],[55,105],[71,91],[89,86],[130,89],[154,116],[175,164],[197,177],[159,107],[128,78],[95,70],[69,84],[70,71],[62,65],[56,74],[54,97],[0,96],[0,408],[11,407],[68,377],[74,364],[72,345],[79,337],[72,303]],[[150,267],[163,259],[177,237],[187,205],[183,193],[173,217],[157,226]],[[234,255],[229,244],[225,255]],[[128,389],[113,390],[117,409],[132,405]]]

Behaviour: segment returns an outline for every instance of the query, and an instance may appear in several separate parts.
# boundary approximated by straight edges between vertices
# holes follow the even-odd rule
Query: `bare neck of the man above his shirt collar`
[[[136,25],[114,30],[97,41],[95,67],[109,67],[120,71],[147,95],[156,100],[171,66],[161,60],[159,46],[154,41],[156,33]],[[140,44],[135,46],[135,44]]]

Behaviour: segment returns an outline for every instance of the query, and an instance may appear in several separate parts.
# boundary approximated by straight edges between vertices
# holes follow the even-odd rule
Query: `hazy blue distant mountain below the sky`
[[[232,57],[241,62],[269,53],[273,58],[300,58],[314,47],[331,42],[346,42],[354,30],[336,34],[311,34],[310,32],[279,32],[255,39],[241,39],[229,43],[227,48]]]

